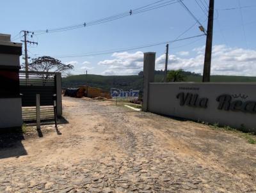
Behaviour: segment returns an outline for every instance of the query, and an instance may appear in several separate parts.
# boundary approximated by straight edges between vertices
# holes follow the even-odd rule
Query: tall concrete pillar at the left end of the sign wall
[[[156,61],[156,52],[144,53],[142,111],[148,111],[149,83],[154,82],[155,61]]]

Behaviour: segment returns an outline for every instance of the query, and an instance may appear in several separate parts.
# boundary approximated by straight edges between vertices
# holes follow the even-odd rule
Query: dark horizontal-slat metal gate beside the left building
[[[22,119],[36,120],[36,94],[40,95],[41,120],[53,119],[53,98],[57,94],[56,74],[20,71],[20,94],[22,97]]]

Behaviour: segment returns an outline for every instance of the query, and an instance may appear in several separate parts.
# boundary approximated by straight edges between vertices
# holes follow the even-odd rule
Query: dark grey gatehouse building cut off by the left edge
[[[22,43],[11,42],[10,37],[10,35],[0,34],[0,72],[2,72],[0,79],[8,79],[7,82],[0,82],[5,84],[1,86],[1,92],[6,93],[0,96],[0,130],[22,126],[21,98],[18,89]],[[12,76],[6,77],[6,73],[12,73]],[[13,74],[16,75],[17,80],[13,78],[15,77]]]

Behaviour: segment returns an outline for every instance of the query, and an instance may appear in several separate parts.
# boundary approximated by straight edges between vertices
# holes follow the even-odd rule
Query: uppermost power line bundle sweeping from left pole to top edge
[[[168,6],[170,4],[175,4],[178,3],[178,0],[161,0],[161,1],[156,1],[155,3],[147,4],[145,6],[141,6],[140,8],[136,8],[134,10],[129,10],[129,12],[123,12],[119,13],[117,15],[112,15],[109,17],[104,17],[102,19],[98,20],[92,20],[90,22],[84,22],[83,24],[77,24],[73,26],[66,26],[66,27],[59,27],[55,29],[46,29],[46,30],[40,30],[40,31],[35,31],[38,32],[37,35],[42,35],[45,33],[57,33],[61,31],[68,31],[72,29],[78,29],[82,27],[88,27],[88,26],[94,26],[97,24],[103,24],[105,22],[110,22],[112,20],[117,20],[117,19],[122,19],[124,17],[129,17],[130,15],[135,15],[138,13],[143,13],[143,12],[148,12],[150,10],[155,10],[157,8],[162,8],[164,6]]]

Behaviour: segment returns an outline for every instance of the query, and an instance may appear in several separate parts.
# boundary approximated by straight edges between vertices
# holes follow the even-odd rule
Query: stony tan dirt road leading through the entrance
[[[0,192],[256,192],[256,146],[236,134],[111,102],[63,112],[60,133],[0,150]]]

